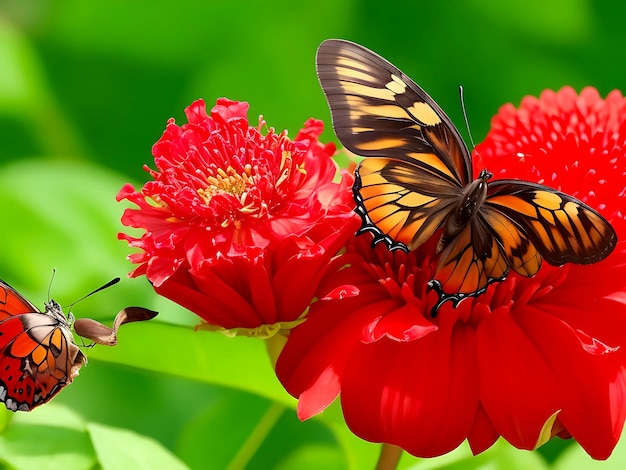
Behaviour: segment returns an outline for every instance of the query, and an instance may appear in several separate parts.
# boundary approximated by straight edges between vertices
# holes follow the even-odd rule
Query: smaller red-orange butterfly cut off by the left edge
[[[114,284],[114,279],[98,290]],[[92,292],[93,293],[93,292]],[[130,313],[127,313],[127,310]],[[132,309],[139,309],[133,311]],[[147,320],[157,312],[128,307],[116,318],[115,330],[95,320],[76,320],[81,336],[100,344],[115,344],[111,332],[121,323]],[[128,318],[130,316],[130,319]],[[84,322],[88,320],[88,322]],[[66,317],[54,300],[41,312],[13,287],[0,280],[0,401],[11,411],[31,411],[72,383],[87,357],[74,343],[73,317]],[[82,323],[78,323],[82,322]],[[97,332],[92,323],[102,327]],[[108,342],[107,342],[108,341]]]

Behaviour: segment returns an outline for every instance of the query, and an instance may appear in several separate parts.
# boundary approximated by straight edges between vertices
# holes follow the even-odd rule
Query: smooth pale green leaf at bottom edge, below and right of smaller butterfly
[[[184,470],[188,467],[154,439],[102,424],[87,425],[104,470]]]

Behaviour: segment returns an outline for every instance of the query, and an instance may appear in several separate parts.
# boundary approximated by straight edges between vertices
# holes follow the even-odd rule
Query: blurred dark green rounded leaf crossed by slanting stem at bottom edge
[[[317,451],[323,453],[310,460]],[[243,393],[224,394],[198,409],[180,435],[177,454],[193,468],[315,468],[315,462],[328,469],[349,468],[346,449],[326,423],[299,422],[294,410]]]

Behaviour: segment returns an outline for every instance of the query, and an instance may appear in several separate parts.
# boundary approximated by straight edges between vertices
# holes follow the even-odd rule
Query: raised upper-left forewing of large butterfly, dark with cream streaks
[[[398,68],[358,44],[331,39],[317,51],[317,75],[335,133],[351,152],[430,164],[459,186],[469,183],[471,159],[458,131]]]

